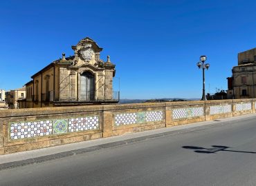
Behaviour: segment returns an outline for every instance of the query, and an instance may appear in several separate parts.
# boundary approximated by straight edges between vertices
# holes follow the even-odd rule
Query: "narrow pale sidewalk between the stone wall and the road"
[[[125,145],[128,143],[134,143],[136,141],[143,141],[149,138],[181,134],[183,132],[190,132],[193,130],[200,130],[207,127],[219,126],[223,125],[224,123],[232,123],[232,121],[255,118],[255,116],[256,114],[248,114],[244,116],[235,116],[232,118],[221,118],[215,121],[203,121],[199,123],[191,123],[188,125],[179,125],[158,130],[130,133],[122,136],[113,136],[109,138],[100,138],[91,141],[83,141],[80,143],[71,143],[55,147],[47,147],[44,149],[35,149],[28,152],[17,152],[15,154],[0,155],[0,170],[29,165],[33,163],[40,163],[44,161],[50,161],[57,158],[64,158],[66,156],[73,156],[75,154],[91,152],[96,149],[114,147],[117,145]]]

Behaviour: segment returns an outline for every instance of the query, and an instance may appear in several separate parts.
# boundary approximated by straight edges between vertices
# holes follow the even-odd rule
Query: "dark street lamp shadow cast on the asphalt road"
[[[213,154],[213,153],[220,152],[220,151],[256,154],[256,152],[230,150],[228,148],[230,148],[230,147],[220,146],[220,145],[212,145],[212,147],[210,147],[210,148],[195,147],[195,146],[183,146],[183,149],[192,149],[192,150],[194,150],[194,152],[204,153],[204,154]]]

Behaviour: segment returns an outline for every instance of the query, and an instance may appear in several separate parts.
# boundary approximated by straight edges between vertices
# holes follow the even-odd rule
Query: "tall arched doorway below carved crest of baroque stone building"
[[[80,85],[80,99],[84,101],[94,101],[94,76],[91,72],[87,71],[81,74]]]

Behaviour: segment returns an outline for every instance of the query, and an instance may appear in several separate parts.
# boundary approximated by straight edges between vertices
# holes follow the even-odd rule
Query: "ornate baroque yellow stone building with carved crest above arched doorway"
[[[86,37],[72,46],[74,55],[53,61],[26,83],[26,99],[20,107],[56,107],[118,103],[113,92],[116,70],[109,56],[100,59],[102,48]]]

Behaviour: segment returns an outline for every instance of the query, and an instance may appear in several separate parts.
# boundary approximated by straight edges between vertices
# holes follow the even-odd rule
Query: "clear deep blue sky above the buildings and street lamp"
[[[226,90],[237,53],[256,47],[255,10],[255,0],[1,1],[0,88],[91,37],[116,64],[121,99],[201,98],[199,56],[210,63],[206,92]]]

